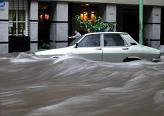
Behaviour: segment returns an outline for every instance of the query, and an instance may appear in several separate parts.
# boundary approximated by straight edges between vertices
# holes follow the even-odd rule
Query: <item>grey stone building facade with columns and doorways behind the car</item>
[[[164,1],[143,1],[144,44],[164,52]],[[68,46],[68,36],[80,30],[76,15],[101,16],[138,41],[138,6],[138,0],[0,0],[0,54]]]

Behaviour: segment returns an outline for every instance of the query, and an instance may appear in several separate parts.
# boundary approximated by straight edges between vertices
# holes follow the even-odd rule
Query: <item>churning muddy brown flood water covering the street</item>
[[[0,116],[164,116],[164,62],[0,57]]]

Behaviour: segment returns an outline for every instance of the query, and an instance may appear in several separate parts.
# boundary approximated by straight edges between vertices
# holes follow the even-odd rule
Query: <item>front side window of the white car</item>
[[[97,46],[100,46],[100,35],[99,34],[87,35],[78,44],[78,47],[97,47]]]

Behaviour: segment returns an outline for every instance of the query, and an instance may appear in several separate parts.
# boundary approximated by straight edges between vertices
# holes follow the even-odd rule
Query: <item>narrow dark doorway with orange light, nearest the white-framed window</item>
[[[49,49],[50,48],[50,8],[47,2],[39,2],[38,11],[38,48],[39,49]]]

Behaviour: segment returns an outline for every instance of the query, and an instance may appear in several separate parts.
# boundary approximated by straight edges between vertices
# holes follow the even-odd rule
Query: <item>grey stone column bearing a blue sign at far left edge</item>
[[[0,4],[0,54],[8,53],[8,0]]]

